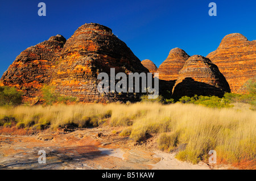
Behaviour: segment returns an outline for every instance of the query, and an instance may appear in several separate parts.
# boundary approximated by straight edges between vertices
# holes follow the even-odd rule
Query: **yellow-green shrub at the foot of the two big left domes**
[[[43,99],[47,105],[52,105],[54,103],[64,103],[76,102],[76,98],[72,96],[60,96],[56,93],[54,86],[44,85],[41,89],[43,94]]]

